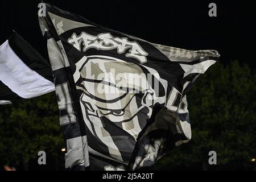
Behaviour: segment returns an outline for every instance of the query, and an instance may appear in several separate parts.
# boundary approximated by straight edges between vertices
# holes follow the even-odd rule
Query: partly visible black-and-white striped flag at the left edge
[[[0,105],[53,90],[51,65],[14,32],[0,46]]]

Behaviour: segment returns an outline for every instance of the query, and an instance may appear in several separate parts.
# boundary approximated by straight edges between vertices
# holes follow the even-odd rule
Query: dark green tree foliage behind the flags
[[[168,152],[150,169],[254,169],[256,157],[256,74],[246,64],[216,63],[187,94],[192,139]],[[0,166],[38,167],[47,152],[47,169],[63,169],[63,135],[54,93],[0,106]],[[209,166],[209,151],[217,165]]]

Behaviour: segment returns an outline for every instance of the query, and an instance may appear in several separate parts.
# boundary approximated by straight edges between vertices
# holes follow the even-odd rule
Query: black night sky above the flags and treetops
[[[40,1],[0,2],[0,43],[15,30],[47,57],[46,42],[38,23]],[[255,68],[256,6],[253,1],[44,2],[152,43],[193,50],[216,49],[222,63],[237,59]],[[217,17],[208,16],[210,2],[217,4]]]

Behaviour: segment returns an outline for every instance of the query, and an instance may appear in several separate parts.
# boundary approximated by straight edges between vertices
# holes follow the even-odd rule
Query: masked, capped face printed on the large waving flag
[[[83,91],[80,104],[84,121],[90,126],[90,132],[101,140],[109,136],[108,130],[98,124],[102,121],[115,123],[137,139],[151,116],[154,102],[164,101],[151,86],[156,71],[152,75],[149,71],[144,73],[137,64],[108,56],[88,56],[77,62],[76,69],[82,78],[76,85]],[[154,84],[158,89],[157,79]],[[113,158],[119,159],[119,156]]]

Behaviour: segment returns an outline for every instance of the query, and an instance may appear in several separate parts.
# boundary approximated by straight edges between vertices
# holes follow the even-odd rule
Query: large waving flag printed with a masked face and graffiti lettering
[[[149,167],[191,139],[186,93],[217,51],[153,44],[43,5],[66,168]]]

